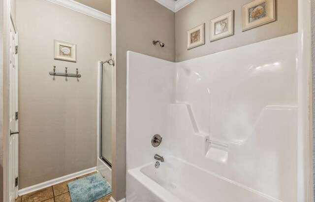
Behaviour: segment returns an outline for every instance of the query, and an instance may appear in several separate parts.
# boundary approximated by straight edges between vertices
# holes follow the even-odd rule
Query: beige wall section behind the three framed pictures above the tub
[[[251,0],[195,0],[175,14],[176,62],[297,32],[297,0],[277,0],[277,21],[242,32],[242,5]],[[235,10],[234,35],[210,43],[210,20]],[[187,50],[187,31],[202,23],[206,44]]]

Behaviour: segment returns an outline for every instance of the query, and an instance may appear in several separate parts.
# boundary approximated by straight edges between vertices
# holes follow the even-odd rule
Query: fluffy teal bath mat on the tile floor
[[[68,187],[72,202],[95,202],[112,193],[100,173],[69,182]]]

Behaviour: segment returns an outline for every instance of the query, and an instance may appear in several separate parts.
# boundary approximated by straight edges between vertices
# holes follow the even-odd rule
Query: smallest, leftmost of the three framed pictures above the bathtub
[[[205,44],[205,24],[201,24],[188,31],[187,49],[195,48]]]

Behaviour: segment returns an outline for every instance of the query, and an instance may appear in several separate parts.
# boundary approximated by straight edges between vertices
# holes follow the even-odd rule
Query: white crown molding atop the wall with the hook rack
[[[93,18],[96,18],[98,20],[102,20],[107,23],[111,23],[112,17],[106,13],[103,13],[99,10],[96,10],[94,8],[91,8],[89,6],[86,6],[82,3],[79,3],[74,0],[48,0],[50,2],[56,3],[58,5],[61,5],[63,7],[75,10],[77,12],[83,13],[85,15],[91,16]]]

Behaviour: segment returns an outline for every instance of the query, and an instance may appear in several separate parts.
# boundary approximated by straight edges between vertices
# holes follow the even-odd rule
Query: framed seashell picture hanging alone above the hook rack
[[[55,57],[56,60],[77,62],[76,45],[64,41],[55,40]]]

